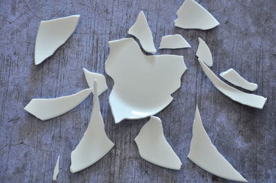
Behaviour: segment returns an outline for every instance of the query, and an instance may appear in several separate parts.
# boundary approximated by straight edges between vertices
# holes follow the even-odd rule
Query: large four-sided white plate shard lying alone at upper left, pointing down
[[[63,45],[77,28],[79,15],[41,21],[34,46],[34,64],[39,65]]]

